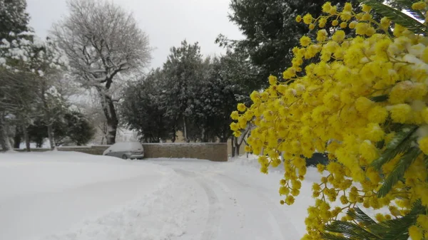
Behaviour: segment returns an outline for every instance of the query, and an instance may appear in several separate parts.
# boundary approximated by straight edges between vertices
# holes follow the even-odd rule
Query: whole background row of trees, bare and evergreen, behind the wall
[[[118,127],[137,130],[144,142],[174,142],[178,131],[188,142],[225,142],[233,137],[228,125],[236,103],[263,89],[270,74],[280,75],[308,33],[295,17],[319,15],[322,4],[232,0],[229,19],[242,40],[219,35],[213,41],[226,51],[210,57],[183,41],[147,73],[148,34],[111,1],[67,1],[68,13],[41,40],[29,27],[25,0],[0,0],[1,148],[46,138],[51,147],[84,145],[94,132],[113,144]],[[94,104],[77,105],[76,98]]]

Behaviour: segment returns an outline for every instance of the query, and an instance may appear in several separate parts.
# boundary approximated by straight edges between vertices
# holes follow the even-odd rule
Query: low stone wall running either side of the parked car
[[[228,161],[228,145],[226,143],[143,143],[146,158],[195,158],[215,162]],[[103,155],[108,145],[88,147],[58,147],[58,151],[84,152],[92,155]],[[17,150],[25,151],[25,150]],[[47,149],[32,149],[44,152]]]

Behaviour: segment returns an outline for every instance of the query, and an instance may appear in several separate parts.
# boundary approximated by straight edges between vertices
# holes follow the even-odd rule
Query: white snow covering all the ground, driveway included
[[[126,161],[78,152],[0,154],[0,239],[299,239],[310,178],[279,204],[280,171],[255,159]],[[317,179],[315,169],[308,171]]]

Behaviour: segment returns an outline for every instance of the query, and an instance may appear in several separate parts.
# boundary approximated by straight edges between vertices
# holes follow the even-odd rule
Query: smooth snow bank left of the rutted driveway
[[[192,206],[172,169],[79,152],[0,154],[0,239],[169,239]]]

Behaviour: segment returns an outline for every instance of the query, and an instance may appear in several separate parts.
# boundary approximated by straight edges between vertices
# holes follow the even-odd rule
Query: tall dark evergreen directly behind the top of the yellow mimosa
[[[267,85],[269,75],[281,76],[290,67],[292,48],[299,45],[299,39],[309,32],[307,26],[295,21],[297,15],[319,16],[321,6],[326,1],[299,0],[232,0],[229,19],[237,24],[245,39],[230,41],[220,35],[217,42],[236,52],[248,53],[255,66],[261,68],[256,88]],[[338,9],[345,2],[357,4],[358,1],[332,0]],[[255,89],[255,88],[254,88]]]

